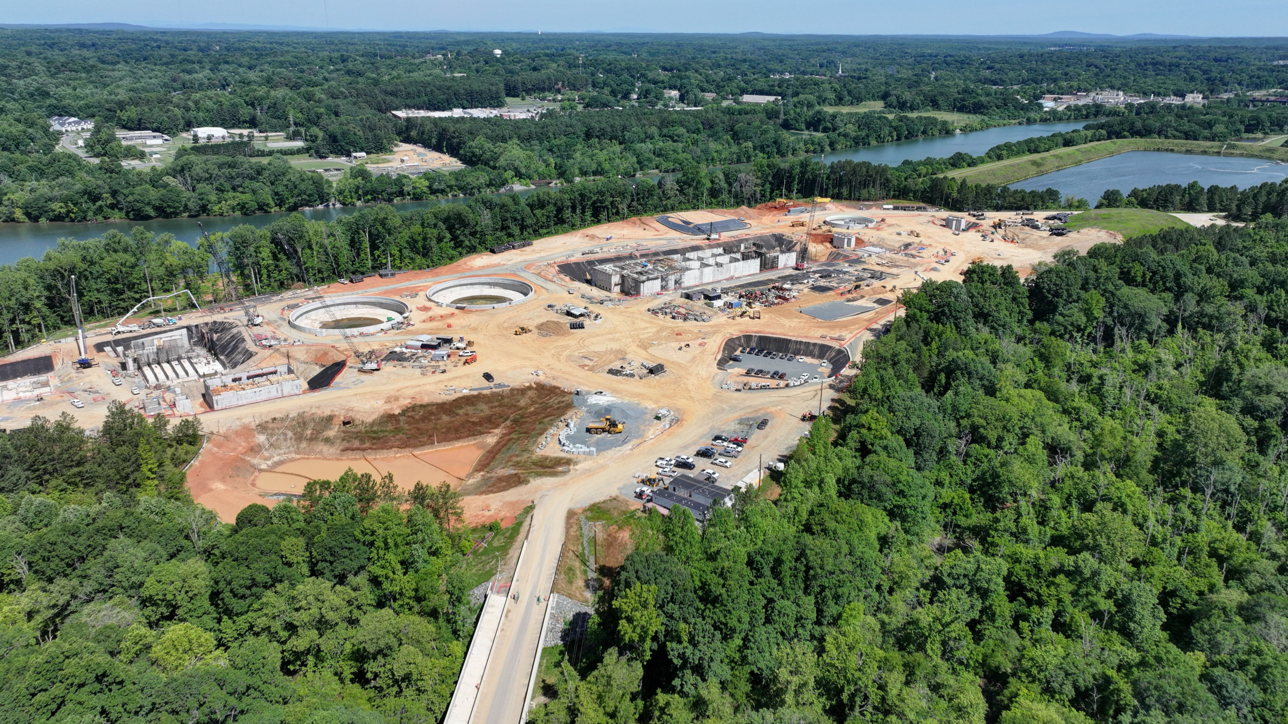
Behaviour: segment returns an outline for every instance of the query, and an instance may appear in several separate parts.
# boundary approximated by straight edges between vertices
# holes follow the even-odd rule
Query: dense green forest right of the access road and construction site
[[[777,481],[649,515],[542,724],[1278,721],[1288,223],[904,292]]]

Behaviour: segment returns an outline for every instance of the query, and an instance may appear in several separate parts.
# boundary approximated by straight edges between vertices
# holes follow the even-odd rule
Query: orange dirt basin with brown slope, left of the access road
[[[420,481],[448,482],[468,493],[501,492],[568,469],[565,457],[535,450],[571,407],[565,390],[536,384],[411,405],[367,421],[318,414],[274,417],[211,433],[188,470],[188,487],[227,522],[246,505],[270,506],[303,492],[308,481],[335,479],[346,468],[392,473],[404,491]],[[515,514],[492,513],[504,519]]]

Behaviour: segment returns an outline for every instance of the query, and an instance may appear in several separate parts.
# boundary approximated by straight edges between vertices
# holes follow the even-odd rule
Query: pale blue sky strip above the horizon
[[[61,0],[6,3],[0,22],[252,23],[368,30],[1288,36],[1284,0]]]

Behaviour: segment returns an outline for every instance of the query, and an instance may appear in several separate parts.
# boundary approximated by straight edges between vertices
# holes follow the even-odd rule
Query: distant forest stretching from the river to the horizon
[[[502,55],[493,48],[504,48]],[[1106,138],[1229,140],[1285,131],[1282,108],[1244,103],[1249,90],[1288,85],[1288,66],[1273,64],[1282,53],[1255,40],[1050,48],[1019,39],[0,30],[0,220],[292,211],[332,201],[471,196],[537,179],[680,173],[692,165],[747,173],[757,161],[958,128],[930,115],[936,112],[971,115],[967,129],[1103,119],[1094,130]],[[1145,103],[1042,111],[1038,103],[1043,94],[1096,88],[1230,98],[1198,110]],[[738,103],[744,93],[782,100]],[[514,98],[563,102],[536,121],[389,115]],[[860,103],[880,108],[836,110]],[[699,110],[667,110],[676,104]],[[48,125],[54,115],[93,119],[86,149],[106,162],[59,151]],[[165,166],[118,167],[142,151],[117,142],[115,129],[183,137],[207,125],[283,133],[305,147],[180,147]],[[456,155],[470,167],[375,179],[358,170],[331,183],[289,161],[381,153],[397,142]],[[917,173],[939,166],[962,167],[942,160]],[[1041,200],[1025,204],[989,188],[945,195],[905,186],[909,198],[933,196],[945,205],[1041,207],[1032,202]]]

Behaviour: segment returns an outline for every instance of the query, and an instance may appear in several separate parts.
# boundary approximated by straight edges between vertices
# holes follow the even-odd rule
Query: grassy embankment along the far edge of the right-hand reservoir
[[[1018,156],[1005,161],[984,164],[970,169],[957,169],[944,174],[967,183],[987,183],[1005,186],[1019,180],[1039,176],[1060,169],[1068,169],[1088,161],[1096,161],[1126,153],[1128,151],[1171,151],[1176,153],[1200,153],[1206,156],[1244,156],[1288,161],[1288,149],[1274,146],[1251,143],[1217,143],[1212,140],[1170,140],[1153,138],[1121,138],[1097,140],[1082,146],[1057,148],[1046,153]]]

